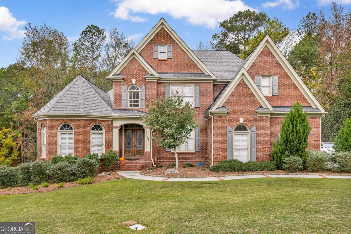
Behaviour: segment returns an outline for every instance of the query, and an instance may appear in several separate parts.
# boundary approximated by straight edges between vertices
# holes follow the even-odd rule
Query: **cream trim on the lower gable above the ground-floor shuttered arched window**
[[[227,87],[227,89],[224,91],[223,95],[221,95],[221,97],[216,101],[215,105],[213,105],[212,110],[223,106],[224,102],[227,100],[229,95],[233,92],[234,88],[237,87],[237,85],[241,79],[243,79],[245,81],[247,86],[251,89],[252,93],[255,95],[255,97],[257,98],[257,100],[260,102],[260,104],[263,107],[268,108],[271,111],[274,111],[271,104],[265,98],[265,96],[260,91],[260,89],[257,87],[257,85],[253,82],[250,75],[246,72],[246,70],[244,68],[242,68],[240,70],[240,72],[238,73],[238,75],[231,81],[231,83],[229,83],[229,87]]]

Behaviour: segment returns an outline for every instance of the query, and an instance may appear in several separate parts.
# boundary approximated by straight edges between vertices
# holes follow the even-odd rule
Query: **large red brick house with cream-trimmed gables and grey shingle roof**
[[[192,103],[199,125],[178,148],[180,165],[270,160],[297,100],[312,127],[309,148],[320,148],[326,112],[268,35],[243,61],[229,51],[192,51],[161,18],[106,78],[109,92],[78,75],[33,115],[38,159],[113,149],[131,169],[174,162],[173,152],[147,140],[151,131],[140,116],[145,103],[176,90]]]

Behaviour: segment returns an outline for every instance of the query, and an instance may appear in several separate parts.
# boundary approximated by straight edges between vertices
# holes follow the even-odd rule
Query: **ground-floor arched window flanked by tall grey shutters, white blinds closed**
[[[242,162],[250,160],[249,154],[249,129],[245,125],[238,125],[234,128],[234,159]]]

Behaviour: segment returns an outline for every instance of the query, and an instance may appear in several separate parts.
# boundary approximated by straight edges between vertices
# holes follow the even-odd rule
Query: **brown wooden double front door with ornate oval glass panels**
[[[124,156],[144,156],[144,129],[124,129]]]

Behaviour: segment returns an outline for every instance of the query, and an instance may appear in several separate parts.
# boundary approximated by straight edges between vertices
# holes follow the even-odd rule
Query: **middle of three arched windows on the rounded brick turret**
[[[73,155],[73,128],[68,123],[63,123],[58,129],[58,154]]]

